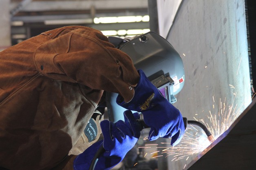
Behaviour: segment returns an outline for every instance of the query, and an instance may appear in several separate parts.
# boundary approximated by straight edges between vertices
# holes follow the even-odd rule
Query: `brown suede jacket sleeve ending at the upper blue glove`
[[[44,76],[116,92],[126,102],[134,96],[139,81],[130,57],[89,27],[78,27],[44,42],[36,49],[34,60]]]

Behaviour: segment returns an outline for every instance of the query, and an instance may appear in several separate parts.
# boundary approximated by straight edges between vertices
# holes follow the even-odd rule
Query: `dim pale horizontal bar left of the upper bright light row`
[[[93,19],[70,19],[70,20],[45,20],[45,25],[62,25],[62,24],[90,24],[93,23]]]

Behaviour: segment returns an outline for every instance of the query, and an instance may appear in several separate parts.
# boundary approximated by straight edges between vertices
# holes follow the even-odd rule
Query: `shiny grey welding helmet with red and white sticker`
[[[170,103],[177,101],[174,95],[183,88],[185,72],[183,61],[174,47],[163,37],[154,32],[148,32],[129,38],[108,37],[110,43],[128,54],[135,68],[141,69],[161,94]],[[107,95],[107,105],[110,111],[117,107],[117,95]],[[115,106],[112,106],[115,105]],[[109,105],[108,105],[109,107]],[[120,114],[120,113],[119,113]]]

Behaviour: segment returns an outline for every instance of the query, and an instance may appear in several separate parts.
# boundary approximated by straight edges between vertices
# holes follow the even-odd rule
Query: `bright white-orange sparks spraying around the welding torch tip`
[[[230,87],[234,87],[230,85]],[[212,96],[213,102],[215,103],[214,96]],[[196,121],[203,122],[207,129],[212,133],[214,139],[217,139],[220,135],[222,135],[233,122],[240,116],[241,107],[238,107],[237,104],[234,104],[236,98],[236,94],[233,99],[233,103],[229,105],[226,103],[226,98],[224,101],[221,98],[218,100],[218,104],[213,105],[213,111],[209,111],[209,115],[206,116],[205,119],[195,118]],[[215,108],[215,109],[214,109]],[[195,114],[196,117],[198,114]],[[147,138],[144,138],[144,140]],[[184,168],[189,168],[187,163],[193,159],[194,155],[198,155],[205,148],[207,148],[211,142],[207,139],[207,135],[205,132],[195,125],[188,125],[181,142],[177,146],[170,146],[170,143],[161,143],[161,144],[147,144],[144,147],[146,152],[150,152],[150,155],[157,153],[156,157],[170,157],[171,161],[179,161],[183,159],[186,164],[184,164]],[[155,147],[155,145],[157,145]],[[158,151],[156,151],[156,149]],[[145,155],[146,156],[146,155]],[[191,158],[191,159],[190,159]]]

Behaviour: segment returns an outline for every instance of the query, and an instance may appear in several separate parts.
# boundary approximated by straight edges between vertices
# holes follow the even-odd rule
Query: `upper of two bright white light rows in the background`
[[[110,23],[125,23],[125,22],[148,22],[149,16],[121,16],[121,17],[95,17],[93,22],[95,24],[110,24]]]

